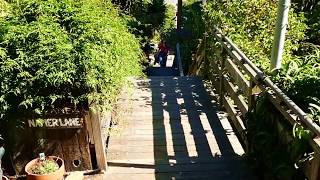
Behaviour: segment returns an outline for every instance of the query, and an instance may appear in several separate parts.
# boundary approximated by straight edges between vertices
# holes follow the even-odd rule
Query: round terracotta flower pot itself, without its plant
[[[25,167],[27,180],[63,180],[63,175],[65,173],[64,161],[56,156],[49,156],[49,158],[54,159],[58,163],[59,169],[55,172],[44,175],[33,174],[32,172],[30,172],[30,169],[37,163],[39,158],[34,159],[30,161]]]

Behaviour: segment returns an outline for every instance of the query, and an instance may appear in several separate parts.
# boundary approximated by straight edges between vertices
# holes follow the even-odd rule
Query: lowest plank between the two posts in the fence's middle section
[[[226,108],[228,115],[232,120],[232,124],[235,126],[237,132],[240,134],[242,142],[248,145],[247,137],[246,137],[246,127],[242,119],[237,115],[237,111],[233,108],[232,103],[226,98],[223,98],[223,105]]]

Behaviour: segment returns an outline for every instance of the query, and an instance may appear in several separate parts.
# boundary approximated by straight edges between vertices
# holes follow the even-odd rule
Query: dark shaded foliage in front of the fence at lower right
[[[281,118],[268,98],[257,100],[256,111],[247,118],[250,164],[260,179],[304,179],[294,164],[299,164],[304,153],[310,151],[310,131],[296,125],[296,137],[292,137],[292,127]]]

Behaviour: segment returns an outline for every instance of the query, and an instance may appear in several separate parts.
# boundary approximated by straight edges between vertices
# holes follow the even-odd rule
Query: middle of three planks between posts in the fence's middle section
[[[227,81],[226,76],[223,76],[223,78],[226,91],[229,93],[232,100],[234,100],[242,115],[246,115],[248,112],[248,105],[244,101],[244,98],[237,94],[235,86],[230,81]]]

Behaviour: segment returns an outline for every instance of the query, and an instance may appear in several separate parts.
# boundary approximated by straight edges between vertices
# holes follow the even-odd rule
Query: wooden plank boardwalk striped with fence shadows
[[[131,107],[124,130],[110,137],[106,179],[253,179],[238,138],[200,79],[134,84],[133,95],[122,99],[123,108]]]

